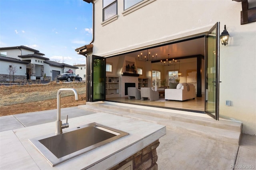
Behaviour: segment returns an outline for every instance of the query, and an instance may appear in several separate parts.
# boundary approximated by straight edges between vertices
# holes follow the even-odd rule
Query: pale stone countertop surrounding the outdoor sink
[[[108,169],[135,154],[166,134],[166,127],[120,117],[95,113],[69,119],[69,128],[88,123],[100,123],[129,135],[52,167],[28,139],[55,134],[55,122],[24,127],[0,133],[0,169]],[[68,129],[62,129],[63,133]]]

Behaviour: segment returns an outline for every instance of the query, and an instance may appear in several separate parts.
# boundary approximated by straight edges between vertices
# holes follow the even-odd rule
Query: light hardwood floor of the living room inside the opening
[[[154,107],[162,107],[169,109],[178,109],[185,111],[194,111],[199,113],[204,113],[204,96],[197,97],[195,99],[181,101],[168,100],[166,101],[164,98],[159,98],[158,101],[149,101],[149,100],[135,100],[128,99],[128,97],[119,97],[119,98],[106,98],[107,101],[112,102],[121,102],[126,104],[137,104],[144,106],[154,106]]]

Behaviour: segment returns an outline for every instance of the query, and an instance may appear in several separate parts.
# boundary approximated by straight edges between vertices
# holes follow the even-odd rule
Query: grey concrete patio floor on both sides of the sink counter
[[[78,107],[61,109],[61,119],[96,113]],[[0,131],[56,120],[56,109],[0,117]],[[159,170],[256,169],[256,136],[242,135],[240,146],[168,130],[157,148]],[[1,148],[0,148],[1,150]]]

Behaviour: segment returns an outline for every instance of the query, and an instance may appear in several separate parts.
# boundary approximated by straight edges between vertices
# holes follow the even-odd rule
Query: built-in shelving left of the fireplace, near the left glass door
[[[119,77],[106,76],[106,98],[119,97]]]

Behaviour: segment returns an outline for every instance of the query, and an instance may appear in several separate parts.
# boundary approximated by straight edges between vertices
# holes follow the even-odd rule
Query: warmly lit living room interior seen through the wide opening
[[[204,113],[204,42],[201,36],[106,58],[106,100]]]

